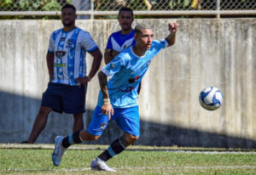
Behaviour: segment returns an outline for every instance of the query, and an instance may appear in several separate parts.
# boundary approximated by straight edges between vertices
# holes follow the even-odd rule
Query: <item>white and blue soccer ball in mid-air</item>
[[[199,95],[199,102],[206,110],[217,110],[223,103],[224,95],[214,87],[205,88]]]

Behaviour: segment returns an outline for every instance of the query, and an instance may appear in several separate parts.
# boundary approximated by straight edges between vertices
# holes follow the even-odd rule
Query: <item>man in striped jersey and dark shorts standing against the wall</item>
[[[46,56],[49,84],[43,93],[32,133],[23,143],[33,144],[43,131],[49,112],[73,114],[73,132],[84,129],[83,113],[87,83],[98,71],[102,53],[90,33],[75,26],[76,8],[67,4],[61,8],[63,28],[49,38]],[[89,73],[86,71],[86,53],[93,57]]]

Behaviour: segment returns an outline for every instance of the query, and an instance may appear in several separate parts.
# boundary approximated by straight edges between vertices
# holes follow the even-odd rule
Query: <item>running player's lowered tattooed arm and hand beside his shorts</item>
[[[110,120],[110,117],[113,115],[113,107],[110,104],[110,99],[108,95],[108,77],[102,71],[100,71],[98,73],[98,78],[103,96],[102,112],[104,115],[108,115],[108,120]]]

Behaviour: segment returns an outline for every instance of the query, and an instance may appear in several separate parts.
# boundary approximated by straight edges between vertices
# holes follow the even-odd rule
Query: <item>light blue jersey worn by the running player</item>
[[[133,53],[132,47],[126,48],[106,65],[102,72],[110,77],[108,93],[114,108],[129,108],[137,105],[137,88],[142,81],[151,60],[162,48],[166,48],[166,40],[154,40],[151,48],[139,57]],[[98,105],[102,106],[102,92],[98,97]]]

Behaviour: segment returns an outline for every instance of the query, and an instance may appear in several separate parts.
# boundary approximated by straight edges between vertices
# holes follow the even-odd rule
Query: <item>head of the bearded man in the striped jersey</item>
[[[64,26],[72,26],[75,23],[77,15],[73,8],[64,8],[61,11],[61,21]]]

